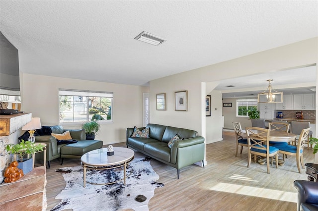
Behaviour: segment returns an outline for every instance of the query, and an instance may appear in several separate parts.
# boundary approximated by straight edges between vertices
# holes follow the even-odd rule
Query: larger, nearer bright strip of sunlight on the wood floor
[[[297,193],[286,191],[235,185],[223,182],[213,186],[210,190],[297,203]]]

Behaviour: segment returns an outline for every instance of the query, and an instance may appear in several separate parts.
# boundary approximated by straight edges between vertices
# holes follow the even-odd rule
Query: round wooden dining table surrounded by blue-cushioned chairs
[[[257,130],[250,130],[253,133],[257,133]],[[246,130],[240,130],[239,135],[242,136],[243,138],[247,138],[247,133]],[[293,133],[288,133],[286,131],[282,130],[270,130],[269,131],[269,137],[268,139],[270,141],[275,141],[275,142],[292,142],[296,140],[297,135]],[[267,159],[266,158],[259,158],[257,162],[261,165],[266,163]],[[283,159],[278,159],[278,164],[279,165],[284,165],[285,161]]]

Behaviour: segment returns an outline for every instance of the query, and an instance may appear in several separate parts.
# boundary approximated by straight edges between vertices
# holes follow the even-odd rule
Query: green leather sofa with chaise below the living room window
[[[54,136],[35,136],[35,142],[46,144],[46,160],[47,168],[50,168],[51,160],[62,158],[61,165],[63,165],[64,158],[80,158],[85,153],[102,148],[103,142],[99,140],[85,140],[86,134],[84,129],[63,129],[62,125],[49,126],[52,133],[62,134],[69,130],[71,137],[77,140],[77,143],[72,144],[57,144]]]

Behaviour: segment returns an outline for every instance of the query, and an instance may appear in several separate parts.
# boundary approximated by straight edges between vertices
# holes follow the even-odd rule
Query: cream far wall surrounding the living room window
[[[59,88],[114,93],[113,122],[101,123],[101,131],[95,137],[104,145],[125,142],[127,127],[143,125],[143,93],[148,87],[103,83],[70,78],[22,74],[21,110],[40,117],[41,124],[59,124]],[[80,124],[63,125],[64,128],[81,128]]]

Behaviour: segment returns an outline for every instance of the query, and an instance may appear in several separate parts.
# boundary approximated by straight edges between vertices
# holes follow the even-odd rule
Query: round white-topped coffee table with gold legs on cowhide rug
[[[91,183],[94,185],[108,185],[113,184],[115,182],[124,181],[124,184],[126,184],[126,168],[130,161],[134,159],[135,153],[133,150],[124,148],[124,147],[114,147],[114,155],[107,156],[107,148],[101,148],[97,150],[90,151],[88,153],[85,153],[80,158],[80,162],[84,168],[84,187],[86,186],[86,169],[92,169],[92,170],[104,170],[104,169],[112,169],[112,168],[119,168],[121,166],[124,166],[124,178],[110,182],[110,183]]]

